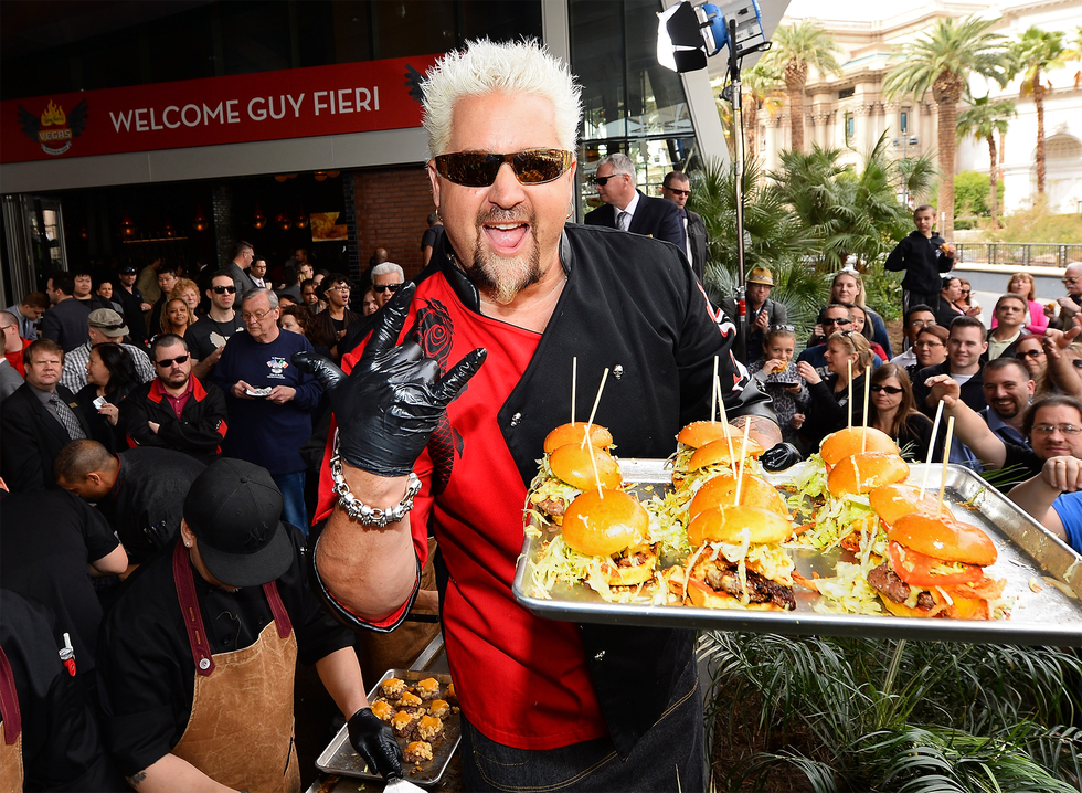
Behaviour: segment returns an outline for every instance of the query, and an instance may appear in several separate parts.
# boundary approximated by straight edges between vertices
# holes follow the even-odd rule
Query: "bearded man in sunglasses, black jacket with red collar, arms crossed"
[[[158,377],[120,403],[128,443],[183,452],[203,464],[216,459],[227,430],[225,394],[192,377],[192,357],[180,336],[159,336],[150,357]]]

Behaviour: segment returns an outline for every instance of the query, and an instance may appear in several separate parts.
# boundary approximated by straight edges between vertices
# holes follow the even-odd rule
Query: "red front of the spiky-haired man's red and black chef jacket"
[[[452,571],[444,635],[463,711],[487,738],[519,749],[554,749],[606,736],[577,626],[535,617],[511,594],[527,488],[497,412],[541,336],[470,311],[438,276],[418,286],[404,338],[416,337],[418,313],[424,315],[422,347],[444,370],[475,348],[488,350],[485,364],[450,403],[449,427],[437,430],[417,461],[414,469],[423,485],[411,514],[417,557],[422,562],[427,557],[431,529]],[[343,359],[347,372],[361,351]],[[460,454],[454,451],[456,436]],[[447,468],[437,468],[434,454],[453,459],[446,487],[436,496],[434,483],[447,476]],[[335,504],[327,465],[319,491],[317,520],[322,520]]]

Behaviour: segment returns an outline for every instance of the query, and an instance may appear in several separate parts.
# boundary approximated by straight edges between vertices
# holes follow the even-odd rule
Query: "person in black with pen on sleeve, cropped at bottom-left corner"
[[[120,793],[53,612],[0,589],[0,793]]]

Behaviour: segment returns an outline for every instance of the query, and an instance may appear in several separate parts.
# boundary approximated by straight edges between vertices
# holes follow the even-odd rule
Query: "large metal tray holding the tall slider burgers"
[[[781,474],[767,474],[775,485],[794,480],[800,463]],[[622,459],[624,480],[636,485],[644,500],[669,486],[661,459]],[[912,465],[909,483],[920,485],[925,465]],[[929,472],[929,489],[938,491],[943,466]],[[533,596],[531,562],[544,537],[526,537],[515,572],[516,600],[538,616],[579,623],[661,625],[778,634],[874,636],[946,642],[1082,646],[1082,557],[970,469],[947,468],[944,501],[954,515],[988,532],[999,558],[989,567],[993,578],[1007,579],[1005,595],[1015,598],[1009,620],[926,620],[920,617],[819,614],[811,610],[818,593],[796,588],[796,611],[724,611],[697,606],[606,603],[585,585],[558,584],[551,599]],[[968,503],[972,506],[964,506]],[[551,535],[550,535],[551,536]],[[799,573],[813,578],[835,574],[840,551],[791,551]],[[1031,582],[1039,592],[1032,591]]]

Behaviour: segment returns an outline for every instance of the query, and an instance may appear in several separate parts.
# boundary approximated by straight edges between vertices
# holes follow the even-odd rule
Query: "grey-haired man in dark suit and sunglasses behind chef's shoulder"
[[[597,194],[605,202],[585,218],[586,225],[606,225],[633,234],[644,234],[686,249],[683,224],[676,204],[644,195],[635,189],[635,163],[627,155],[615,154],[597,163]]]

